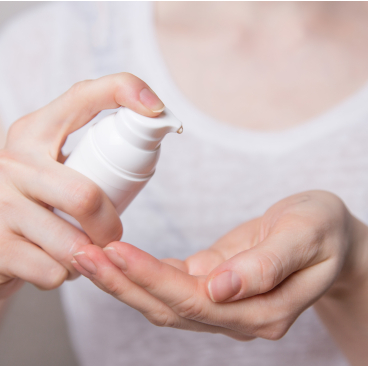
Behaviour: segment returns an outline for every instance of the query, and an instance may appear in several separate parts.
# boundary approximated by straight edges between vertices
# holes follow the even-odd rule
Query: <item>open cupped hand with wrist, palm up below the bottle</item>
[[[367,227],[335,195],[288,197],[184,262],[121,242],[75,268],[158,326],[280,339],[309,306],[353,365],[368,359]],[[358,325],[358,326],[357,326]]]

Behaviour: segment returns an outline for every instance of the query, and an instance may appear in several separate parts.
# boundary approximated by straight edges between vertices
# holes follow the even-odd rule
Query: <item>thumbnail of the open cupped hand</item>
[[[241,289],[241,279],[233,271],[222,272],[208,284],[208,291],[213,302],[224,301],[236,295]]]

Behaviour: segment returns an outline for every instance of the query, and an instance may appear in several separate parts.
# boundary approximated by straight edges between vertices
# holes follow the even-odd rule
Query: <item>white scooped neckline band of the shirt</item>
[[[199,110],[173,81],[158,44],[153,3],[132,3],[130,27],[134,59],[145,80],[184,121],[184,131],[187,127],[205,141],[246,153],[284,154],[367,120],[368,83],[321,115],[285,130],[261,132],[227,125]]]

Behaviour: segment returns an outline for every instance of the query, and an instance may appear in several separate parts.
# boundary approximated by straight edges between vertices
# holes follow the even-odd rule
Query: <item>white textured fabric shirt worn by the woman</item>
[[[197,110],[174,85],[152,19],[146,3],[56,3],[9,25],[0,38],[5,124],[78,80],[129,71],[148,82],[184,133],[165,138],[155,176],[122,219],[124,240],[160,258],[207,248],[276,201],[309,189],[336,193],[368,222],[368,87],[286,131],[233,128]],[[85,278],[65,284],[62,294],[83,366],[347,365],[312,309],[280,341],[241,343],[156,328]]]

